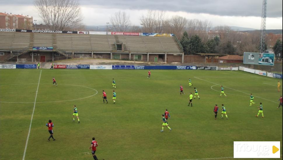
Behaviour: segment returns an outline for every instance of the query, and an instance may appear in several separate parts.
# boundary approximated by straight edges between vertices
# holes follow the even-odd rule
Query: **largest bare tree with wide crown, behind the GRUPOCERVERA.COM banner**
[[[82,25],[78,0],[34,0],[34,6],[50,30],[62,31]]]

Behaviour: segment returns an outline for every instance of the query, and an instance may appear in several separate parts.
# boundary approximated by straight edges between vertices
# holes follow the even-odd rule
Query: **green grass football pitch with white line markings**
[[[282,91],[277,92],[277,80],[242,71],[152,70],[147,79],[146,70],[0,70],[0,159],[22,159],[38,83],[25,159],[93,159],[92,137],[99,145],[98,159],[105,160],[233,157],[233,141],[280,141],[282,155],[282,107],[277,109]],[[180,84],[185,95],[180,96]],[[227,97],[219,97],[219,85]],[[193,87],[200,99],[188,107]],[[103,104],[102,90],[108,104]],[[255,117],[260,102],[264,118]],[[221,104],[229,120],[221,119]],[[80,124],[72,121],[73,105]],[[165,109],[172,131],[164,128],[161,133]],[[47,140],[49,119],[56,141]]]

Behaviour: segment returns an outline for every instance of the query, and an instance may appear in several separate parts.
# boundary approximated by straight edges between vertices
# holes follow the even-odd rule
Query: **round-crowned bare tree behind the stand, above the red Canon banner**
[[[130,16],[126,12],[116,12],[110,17],[110,22],[115,31],[124,32],[130,26]]]

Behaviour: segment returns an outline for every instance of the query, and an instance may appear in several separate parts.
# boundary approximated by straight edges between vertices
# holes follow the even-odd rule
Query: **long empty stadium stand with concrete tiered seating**
[[[0,37],[0,51],[6,54],[0,56],[0,61],[12,61],[11,59],[15,61],[15,58],[35,58],[36,61],[39,61],[37,57],[26,54],[29,52],[36,52],[41,56],[52,58],[51,60],[54,60],[54,53],[59,53],[66,58],[74,58],[79,53],[89,57],[102,55],[104,58],[112,58],[112,54],[115,54],[118,55],[118,59],[130,60],[134,60],[134,56],[131,56],[131,54],[142,54],[144,56],[139,59],[141,61],[154,61],[152,57],[158,57],[162,61],[166,61],[167,54],[184,56],[183,49],[175,36],[0,32]],[[35,51],[33,47],[53,47],[53,50]]]

